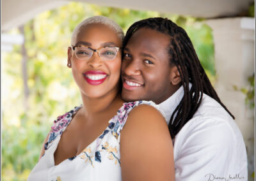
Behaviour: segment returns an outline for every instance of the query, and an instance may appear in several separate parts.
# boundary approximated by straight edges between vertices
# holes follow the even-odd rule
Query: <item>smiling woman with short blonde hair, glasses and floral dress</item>
[[[120,96],[123,38],[107,17],[77,25],[67,66],[83,105],[54,120],[28,180],[174,180],[172,139],[157,105]]]

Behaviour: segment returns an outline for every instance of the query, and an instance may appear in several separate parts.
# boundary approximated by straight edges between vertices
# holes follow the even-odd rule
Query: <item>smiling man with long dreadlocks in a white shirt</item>
[[[186,31],[167,18],[147,18],[129,27],[123,48],[122,98],[152,100],[163,109],[175,180],[247,180],[243,136]]]

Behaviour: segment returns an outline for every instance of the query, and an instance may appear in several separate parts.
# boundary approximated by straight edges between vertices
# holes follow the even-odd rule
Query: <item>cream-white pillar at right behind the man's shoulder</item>
[[[248,154],[248,180],[254,170],[254,109],[245,104],[245,95],[234,85],[248,88],[248,77],[255,72],[255,19],[248,17],[207,20],[214,37],[217,82],[221,101],[236,117]]]

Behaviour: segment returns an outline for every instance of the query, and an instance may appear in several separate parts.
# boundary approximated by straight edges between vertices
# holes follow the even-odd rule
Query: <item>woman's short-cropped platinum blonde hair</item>
[[[122,27],[120,27],[120,25],[116,24],[115,21],[111,20],[108,17],[94,16],[94,17],[86,18],[85,20],[83,20],[83,22],[81,22],[79,25],[77,25],[77,27],[74,29],[72,36],[71,36],[71,45],[74,46],[74,43],[76,43],[75,42],[76,37],[77,37],[77,34],[79,33],[79,31],[81,30],[81,28],[85,27],[86,25],[90,25],[90,24],[107,25],[108,27],[113,29],[113,31],[115,31],[118,38],[120,38],[121,42],[124,40],[124,31],[123,31]]]

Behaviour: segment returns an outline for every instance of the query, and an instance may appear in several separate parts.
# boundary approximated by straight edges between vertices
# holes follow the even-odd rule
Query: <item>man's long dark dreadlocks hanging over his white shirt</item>
[[[179,27],[171,20],[168,20],[168,18],[156,17],[140,20],[132,24],[127,30],[123,41],[123,47],[127,45],[132,34],[143,27],[170,36],[170,44],[168,45],[170,64],[175,64],[175,66],[177,66],[181,83],[184,88],[184,96],[172,113],[168,125],[172,138],[175,138],[180,129],[182,129],[186,122],[193,117],[202,102],[203,93],[220,103],[230,116],[235,119],[234,115],[232,115],[226,106],[221,103],[209,78],[205,74],[204,68],[200,64],[188,34],[182,27]],[[189,82],[192,83],[190,90]]]

